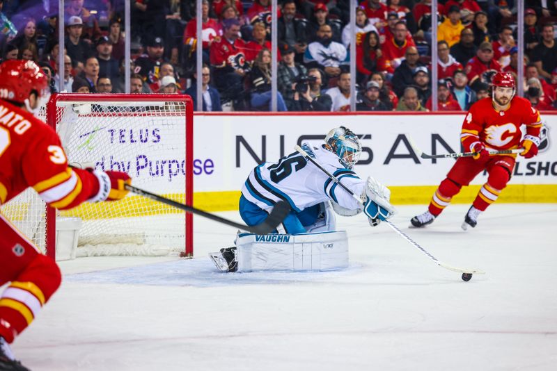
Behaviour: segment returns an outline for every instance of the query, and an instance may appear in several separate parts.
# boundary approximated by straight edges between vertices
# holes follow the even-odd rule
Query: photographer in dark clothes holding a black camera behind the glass
[[[292,110],[329,112],[333,100],[327,94],[322,94],[322,74],[320,69],[311,68],[307,75],[299,75],[295,84],[294,101]]]

